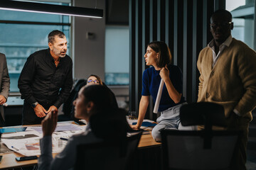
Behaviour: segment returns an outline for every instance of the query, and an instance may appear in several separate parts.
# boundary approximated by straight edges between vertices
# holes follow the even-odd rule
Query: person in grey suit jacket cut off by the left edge
[[[4,126],[4,107],[10,90],[10,78],[7,69],[6,57],[0,53],[0,127]]]

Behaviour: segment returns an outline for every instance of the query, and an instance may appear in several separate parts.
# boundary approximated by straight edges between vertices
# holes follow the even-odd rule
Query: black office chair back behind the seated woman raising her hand
[[[142,131],[129,133],[127,147],[112,141],[78,145],[75,169],[128,169],[141,136]]]

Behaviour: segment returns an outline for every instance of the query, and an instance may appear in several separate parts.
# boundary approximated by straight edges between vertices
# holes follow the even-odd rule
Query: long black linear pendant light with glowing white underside
[[[103,9],[42,4],[26,1],[0,0],[0,9],[36,13],[51,13],[66,16],[82,16],[90,18],[103,17]]]

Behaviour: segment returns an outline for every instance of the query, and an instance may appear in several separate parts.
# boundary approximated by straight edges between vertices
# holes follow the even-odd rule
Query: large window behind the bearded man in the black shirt
[[[27,57],[33,52],[48,48],[47,37],[52,30],[65,33],[69,55],[69,16],[0,10],[0,52],[6,55],[11,78],[10,92],[18,92],[18,77]]]

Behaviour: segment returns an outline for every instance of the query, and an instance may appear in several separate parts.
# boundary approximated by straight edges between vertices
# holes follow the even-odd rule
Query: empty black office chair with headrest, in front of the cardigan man
[[[164,169],[229,169],[239,131],[212,130],[226,127],[223,106],[191,103],[181,107],[181,124],[204,125],[204,130],[162,130]]]

